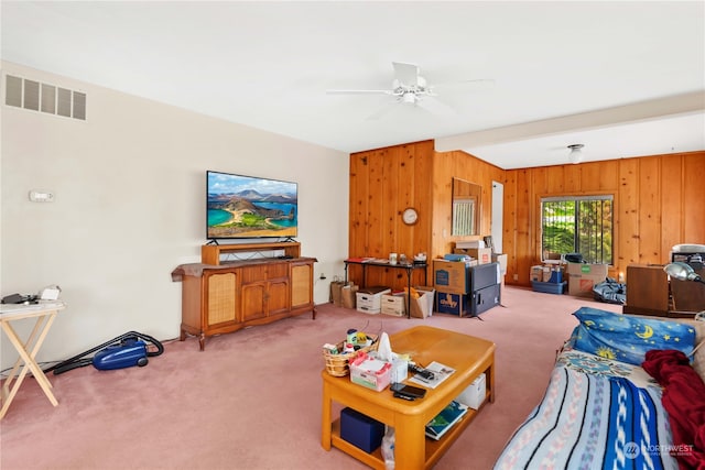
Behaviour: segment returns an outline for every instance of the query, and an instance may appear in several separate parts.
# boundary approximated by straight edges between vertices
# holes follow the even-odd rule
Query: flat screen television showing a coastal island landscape
[[[208,240],[294,238],[299,231],[296,183],[206,172]]]

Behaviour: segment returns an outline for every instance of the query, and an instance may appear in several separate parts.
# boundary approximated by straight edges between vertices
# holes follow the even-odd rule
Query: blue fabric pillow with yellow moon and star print
[[[674,349],[687,356],[695,345],[695,328],[684,323],[590,307],[582,307],[573,315],[579,320],[573,347],[601,358],[640,365],[649,350]]]

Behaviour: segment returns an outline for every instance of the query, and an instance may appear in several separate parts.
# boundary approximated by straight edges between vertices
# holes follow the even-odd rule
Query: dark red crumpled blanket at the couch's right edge
[[[705,383],[681,351],[648,351],[641,367],[663,386],[674,445],[669,450],[681,470],[705,470]]]

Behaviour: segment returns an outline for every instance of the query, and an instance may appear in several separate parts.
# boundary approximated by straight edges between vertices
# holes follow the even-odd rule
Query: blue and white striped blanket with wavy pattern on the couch
[[[565,367],[495,469],[677,469],[657,387]]]

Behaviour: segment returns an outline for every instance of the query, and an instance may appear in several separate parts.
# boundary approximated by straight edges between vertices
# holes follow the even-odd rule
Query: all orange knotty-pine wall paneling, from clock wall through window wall
[[[529,286],[530,269],[541,261],[544,196],[614,195],[615,278],[632,263],[668,262],[674,244],[705,243],[705,151],[505,171],[465,152],[435,152],[433,141],[424,141],[350,155],[349,255],[425,252],[431,260],[458,240],[477,239],[451,236],[454,176],[482,187],[481,236],[490,233],[492,181],[505,185],[507,284]],[[406,207],[419,211],[414,226],[401,220]],[[431,269],[427,275],[431,284]],[[423,284],[423,273],[413,276]],[[348,277],[360,283],[360,267],[351,265]],[[402,270],[370,269],[366,281],[406,285]]]

